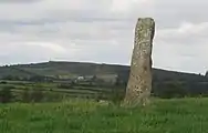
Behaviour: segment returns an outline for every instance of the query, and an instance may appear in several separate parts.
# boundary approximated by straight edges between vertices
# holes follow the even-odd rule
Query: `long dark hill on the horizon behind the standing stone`
[[[42,62],[0,66],[0,79],[23,81],[71,82],[84,78],[84,84],[93,88],[125,89],[129,66],[86,62]],[[79,80],[80,82],[80,80]],[[80,83],[79,83],[80,84]],[[80,84],[81,85],[81,84]],[[208,76],[153,69],[153,94],[160,98],[208,95]]]

